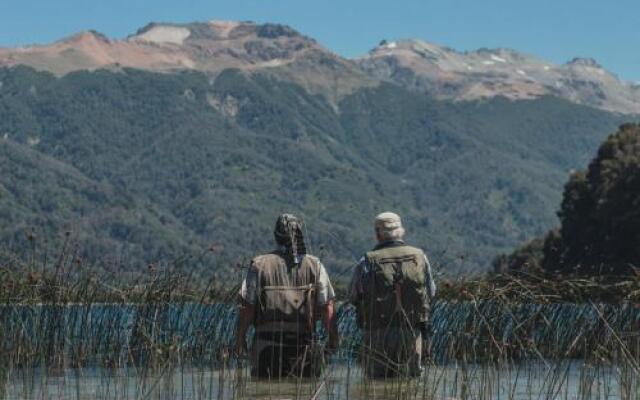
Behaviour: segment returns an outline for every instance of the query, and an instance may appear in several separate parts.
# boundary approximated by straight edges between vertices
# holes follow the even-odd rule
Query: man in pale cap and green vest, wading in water
[[[363,334],[363,369],[372,378],[419,376],[436,286],[425,253],[404,243],[400,216],[376,216],[377,245],[356,266],[349,287]]]

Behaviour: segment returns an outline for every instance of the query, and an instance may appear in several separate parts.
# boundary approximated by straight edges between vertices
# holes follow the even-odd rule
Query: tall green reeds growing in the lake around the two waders
[[[342,343],[320,378],[256,381],[229,350],[235,286],[194,286],[159,266],[117,282],[72,256],[0,271],[0,396],[9,398],[640,398],[635,280],[443,284],[419,379],[366,379],[358,360],[368,349],[344,304]]]

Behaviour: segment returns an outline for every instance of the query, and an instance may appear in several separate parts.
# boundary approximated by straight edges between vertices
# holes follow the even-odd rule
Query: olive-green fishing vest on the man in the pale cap
[[[365,330],[417,327],[428,318],[426,263],[422,250],[393,244],[366,253],[359,324]]]

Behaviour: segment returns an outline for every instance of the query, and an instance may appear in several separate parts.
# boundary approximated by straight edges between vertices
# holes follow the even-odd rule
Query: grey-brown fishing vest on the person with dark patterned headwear
[[[272,253],[254,258],[253,264],[259,279],[256,329],[313,332],[320,261],[305,255],[297,267],[289,268],[282,256]]]

